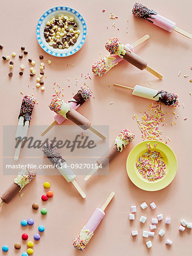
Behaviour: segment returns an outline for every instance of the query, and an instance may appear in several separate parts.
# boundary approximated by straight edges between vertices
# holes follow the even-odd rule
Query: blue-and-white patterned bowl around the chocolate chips
[[[80,30],[80,35],[78,36],[77,43],[74,44],[74,46],[70,46],[69,48],[65,48],[65,49],[59,49],[59,48],[54,49],[53,47],[49,46],[49,44],[45,41],[43,32],[48,20],[51,20],[53,17],[60,16],[62,14],[69,15],[74,18],[74,20],[77,23],[78,30]],[[87,36],[87,26],[85,23],[85,19],[82,17],[80,13],[78,13],[78,11],[65,6],[53,7],[48,11],[46,11],[40,17],[36,27],[36,37],[40,47],[45,52],[56,57],[67,57],[78,52],[81,49],[81,47],[84,45],[86,36]]]

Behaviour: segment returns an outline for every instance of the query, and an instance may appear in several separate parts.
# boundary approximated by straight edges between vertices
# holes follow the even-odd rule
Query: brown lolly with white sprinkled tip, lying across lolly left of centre
[[[81,115],[73,108],[70,108],[69,104],[61,100],[61,98],[59,97],[52,98],[49,108],[52,111],[54,111],[56,114],[60,114],[66,119],[69,119],[70,121],[72,121],[73,123],[76,123],[76,125],[81,126],[82,129],[84,130],[89,129],[98,137],[102,139],[106,139],[106,137],[103,134],[99,133],[99,131],[95,130],[91,126],[91,122],[86,117],[84,117],[84,115]]]

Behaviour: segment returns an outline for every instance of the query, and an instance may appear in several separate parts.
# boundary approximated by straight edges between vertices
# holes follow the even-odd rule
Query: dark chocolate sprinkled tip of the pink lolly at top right
[[[151,23],[153,23],[153,21],[148,18],[154,19],[151,15],[157,15],[156,11],[148,9],[146,6],[142,5],[142,3],[135,3],[135,5],[133,5],[132,14],[137,18],[146,19]]]

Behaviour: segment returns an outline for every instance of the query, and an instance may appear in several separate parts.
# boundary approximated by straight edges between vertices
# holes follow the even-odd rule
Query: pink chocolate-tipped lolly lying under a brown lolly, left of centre
[[[68,104],[70,108],[73,108],[74,110],[76,110],[78,107],[84,104],[85,101],[89,100],[91,95],[92,95],[92,92],[89,88],[87,88],[86,86],[81,86],[81,88],[73,96],[73,98],[70,101],[68,101],[69,102]],[[60,114],[55,114],[54,119],[55,121],[53,121],[51,125],[49,125],[47,129],[43,131],[43,133],[41,133],[41,136],[44,136],[46,133],[48,133],[48,131],[51,130],[52,127],[54,127],[54,125],[57,125],[57,123],[61,125],[61,123],[66,120],[66,118]]]

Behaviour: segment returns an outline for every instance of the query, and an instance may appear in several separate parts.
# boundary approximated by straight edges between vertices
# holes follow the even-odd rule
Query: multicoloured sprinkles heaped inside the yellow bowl
[[[166,175],[166,164],[157,151],[148,150],[136,162],[140,175],[148,181],[157,181]]]

